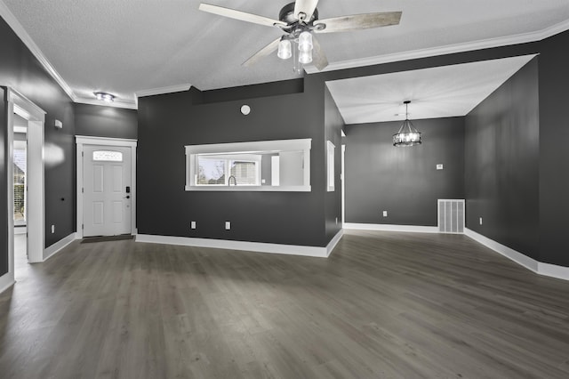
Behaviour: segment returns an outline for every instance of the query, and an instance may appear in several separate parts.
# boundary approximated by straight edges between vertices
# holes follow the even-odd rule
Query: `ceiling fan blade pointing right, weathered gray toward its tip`
[[[326,28],[314,31],[317,33],[336,33],[350,30],[387,27],[397,25],[402,12],[378,12],[352,14],[351,16],[333,17],[332,19],[317,20],[314,25],[325,24]]]

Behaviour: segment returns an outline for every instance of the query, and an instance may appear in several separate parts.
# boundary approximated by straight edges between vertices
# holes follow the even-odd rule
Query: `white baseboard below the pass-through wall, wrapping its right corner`
[[[340,237],[338,237],[340,234]],[[281,245],[281,244],[268,244],[263,242],[245,242],[245,241],[231,241],[225,239],[209,239],[209,238],[189,238],[189,237],[173,237],[173,236],[154,236],[149,234],[137,234],[136,242],[146,242],[150,244],[164,244],[164,245],[180,245],[180,246],[195,246],[195,247],[212,247],[228,250],[243,250],[258,253],[270,254],[289,254],[289,255],[302,255],[312,256],[319,258],[327,258],[333,250],[333,247],[338,243],[341,238],[339,232],[334,236],[332,241],[325,247],[318,246],[297,246],[297,245]]]

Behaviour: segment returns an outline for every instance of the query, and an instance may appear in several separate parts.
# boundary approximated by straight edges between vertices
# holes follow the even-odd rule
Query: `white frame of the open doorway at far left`
[[[13,178],[13,114],[18,113],[28,120],[28,157],[26,210],[28,231],[28,262],[44,262],[45,248],[45,181],[44,181],[44,109],[11,87],[8,92],[8,181]],[[14,194],[8,189],[8,251],[9,272],[14,274]]]

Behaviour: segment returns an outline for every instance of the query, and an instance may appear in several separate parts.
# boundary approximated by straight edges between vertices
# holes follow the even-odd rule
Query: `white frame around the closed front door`
[[[105,147],[121,147],[131,149],[131,234],[137,233],[136,229],[136,145],[137,140],[124,138],[106,138],[106,137],[89,137],[84,135],[76,135],[76,199],[77,199],[77,225],[76,237],[83,238],[83,153],[84,145],[97,145]]]

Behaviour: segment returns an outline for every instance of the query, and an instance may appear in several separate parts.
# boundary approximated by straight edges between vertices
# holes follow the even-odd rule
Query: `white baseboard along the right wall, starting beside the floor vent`
[[[526,269],[532,270],[536,274],[551,278],[569,280],[569,267],[536,261],[525,254],[521,254],[508,246],[502,245],[501,243],[487,238],[474,230],[469,230],[468,228],[464,229],[464,234],[478,243],[493,249],[496,253],[517,262],[517,264],[524,266]]]

